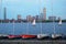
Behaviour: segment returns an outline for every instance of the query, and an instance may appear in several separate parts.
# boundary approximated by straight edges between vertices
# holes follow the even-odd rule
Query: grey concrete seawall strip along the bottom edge
[[[66,40],[0,40],[0,44],[66,44]]]

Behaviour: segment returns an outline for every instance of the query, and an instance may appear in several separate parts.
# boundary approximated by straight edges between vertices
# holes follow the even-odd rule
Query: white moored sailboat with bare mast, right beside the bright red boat
[[[41,2],[41,1],[40,1]],[[44,8],[44,11],[43,12],[46,12],[46,8]],[[46,13],[45,13],[46,14]],[[41,25],[41,33],[40,34],[37,34],[37,38],[47,38],[50,35],[47,34],[47,33],[43,33],[43,26],[42,26],[42,21],[43,21],[43,16],[41,16],[41,23],[40,23],[40,25]]]

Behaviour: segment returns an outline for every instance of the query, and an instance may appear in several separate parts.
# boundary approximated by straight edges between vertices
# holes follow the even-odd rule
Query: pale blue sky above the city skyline
[[[46,8],[46,18],[51,16],[53,12],[53,15],[66,19],[66,0],[0,0],[0,19],[3,19],[4,7],[7,8],[7,19],[16,19],[18,14],[21,14],[22,19],[29,14],[40,15],[43,8]]]

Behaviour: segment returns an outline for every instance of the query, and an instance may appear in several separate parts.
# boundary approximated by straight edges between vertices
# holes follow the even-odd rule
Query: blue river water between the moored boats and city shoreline
[[[29,24],[29,26],[28,26]],[[66,34],[66,23],[58,25],[55,24],[56,33]],[[14,23],[14,34],[26,34],[26,30],[29,34],[40,34],[42,25],[42,33],[53,34],[53,23],[36,23],[35,26],[32,23]],[[0,23],[0,33],[1,34],[13,34],[13,23]]]

